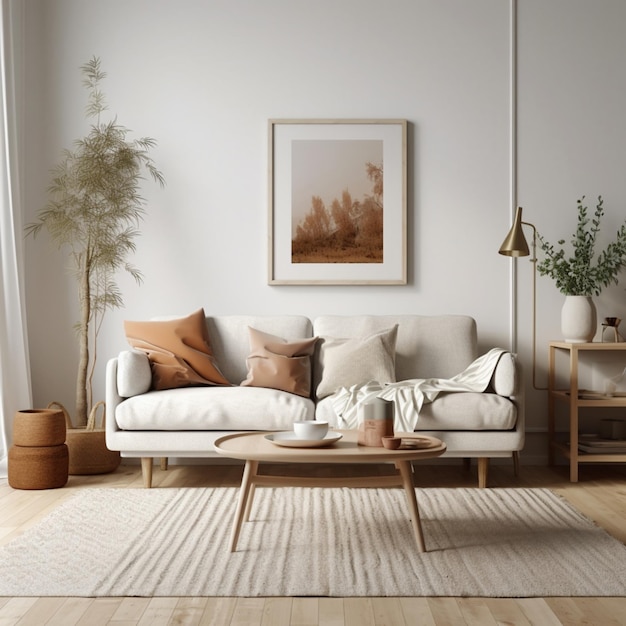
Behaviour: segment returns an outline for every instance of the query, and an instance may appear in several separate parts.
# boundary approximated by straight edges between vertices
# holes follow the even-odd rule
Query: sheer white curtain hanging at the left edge
[[[0,478],[7,475],[13,415],[31,407],[30,367],[23,292],[24,230],[17,158],[16,57],[18,15],[0,0]]]

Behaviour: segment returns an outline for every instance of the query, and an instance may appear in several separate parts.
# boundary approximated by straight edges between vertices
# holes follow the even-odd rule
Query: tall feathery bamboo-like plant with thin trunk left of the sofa
[[[104,314],[123,304],[115,282],[118,270],[138,283],[141,272],[128,262],[143,219],[145,200],[140,193],[144,173],[161,186],[165,180],[149,151],[154,139],[128,139],[129,130],[117,118],[103,122],[107,110],[100,84],[106,77],[100,59],[81,66],[88,90],[86,117],[92,119],[88,134],[64,150],[52,170],[49,200],[37,220],[26,226],[36,236],[45,228],[53,243],[66,251],[78,284],[80,319],[75,325],[79,360],[76,380],[74,426],[81,427],[93,406],[93,373],[97,338]]]

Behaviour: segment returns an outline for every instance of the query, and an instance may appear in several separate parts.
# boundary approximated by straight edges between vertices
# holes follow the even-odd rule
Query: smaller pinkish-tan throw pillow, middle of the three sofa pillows
[[[311,355],[317,337],[287,340],[248,327],[248,376],[241,384],[311,395]]]

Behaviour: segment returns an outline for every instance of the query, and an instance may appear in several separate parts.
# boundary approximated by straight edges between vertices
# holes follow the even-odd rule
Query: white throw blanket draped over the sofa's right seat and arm
[[[413,378],[395,383],[372,380],[341,387],[331,396],[331,403],[339,418],[338,427],[358,428],[362,405],[374,398],[382,398],[394,403],[394,430],[413,432],[424,403],[432,402],[442,391],[485,391],[505,352],[502,348],[492,348],[452,378]]]

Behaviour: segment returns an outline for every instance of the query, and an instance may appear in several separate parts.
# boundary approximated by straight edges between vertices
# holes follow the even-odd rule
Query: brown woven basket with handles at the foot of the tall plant
[[[105,440],[106,408],[104,402],[98,402],[91,409],[86,428],[74,428],[72,420],[59,402],[51,402],[48,408],[57,407],[65,416],[67,425],[67,447],[70,452],[70,474],[108,474],[114,472],[120,465],[121,457],[118,451],[109,450]],[[102,408],[102,420],[96,428],[96,414]]]

